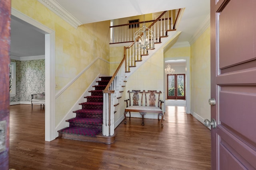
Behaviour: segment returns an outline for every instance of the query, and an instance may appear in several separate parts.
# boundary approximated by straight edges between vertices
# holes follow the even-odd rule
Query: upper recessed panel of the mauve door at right
[[[238,0],[231,0],[220,10],[220,69],[255,59],[255,37],[250,34],[255,31],[254,24],[248,25],[255,22],[255,17],[247,17],[251,15],[250,10],[254,7]]]

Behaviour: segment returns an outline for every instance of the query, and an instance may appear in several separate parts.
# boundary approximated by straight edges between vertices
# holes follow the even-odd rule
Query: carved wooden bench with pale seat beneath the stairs
[[[126,102],[126,109],[124,110],[124,117],[125,121],[124,124],[126,124],[126,114],[129,112],[131,118],[131,111],[133,112],[139,112],[142,116],[142,125],[144,125],[144,115],[146,113],[158,113],[158,121],[159,116],[162,116],[161,119],[161,127],[164,127],[163,125],[163,118],[164,114],[162,111],[162,103],[164,103],[162,100],[160,100],[160,94],[161,91],[156,92],[156,90],[148,90],[146,92],[143,90],[142,92],[140,90],[132,90],[128,91],[129,93],[129,99],[124,100]],[[131,103],[131,95],[132,95],[132,103]],[[129,101],[129,105],[128,105]],[[149,105],[148,105],[149,104]],[[157,106],[156,106],[157,105]]]

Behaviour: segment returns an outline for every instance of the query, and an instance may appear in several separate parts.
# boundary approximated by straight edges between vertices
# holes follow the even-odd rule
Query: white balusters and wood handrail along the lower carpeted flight
[[[125,83],[125,56],[119,64],[110,82],[103,90],[103,124],[102,134],[104,136],[114,135],[114,111],[118,104],[118,98]]]

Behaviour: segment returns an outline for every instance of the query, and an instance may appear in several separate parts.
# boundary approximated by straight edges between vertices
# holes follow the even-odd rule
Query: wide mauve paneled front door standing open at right
[[[256,169],[256,0],[211,0],[212,170]]]

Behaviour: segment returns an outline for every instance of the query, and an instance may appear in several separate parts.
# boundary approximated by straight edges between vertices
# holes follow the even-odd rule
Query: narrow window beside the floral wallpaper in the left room
[[[10,63],[10,97],[16,96],[16,63]]]

